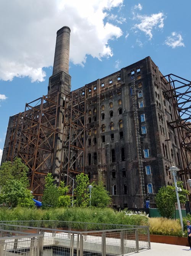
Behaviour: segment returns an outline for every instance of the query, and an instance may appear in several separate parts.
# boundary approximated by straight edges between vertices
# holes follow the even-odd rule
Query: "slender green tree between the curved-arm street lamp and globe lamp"
[[[76,176],[76,188],[74,193],[76,193],[76,200],[74,204],[79,207],[87,207],[89,205],[89,178],[87,174],[80,173]]]

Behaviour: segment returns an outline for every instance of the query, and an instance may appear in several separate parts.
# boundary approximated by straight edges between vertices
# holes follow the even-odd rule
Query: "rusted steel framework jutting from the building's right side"
[[[173,120],[168,122],[178,132],[183,170],[180,174],[191,175],[191,81],[168,74],[162,77],[167,84],[165,91],[173,104]]]

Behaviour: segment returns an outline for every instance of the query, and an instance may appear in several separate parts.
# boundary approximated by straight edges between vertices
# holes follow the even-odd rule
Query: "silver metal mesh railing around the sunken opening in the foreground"
[[[28,226],[28,224],[30,225]],[[3,230],[8,231],[11,237],[6,235],[5,239]],[[91,254],[90,256],[114,256],[136,253],[143,249],[151,248],[148,226],[70,221],[0,222],[0,236],[4,239],[4,244],[5,241],[13,243],[14,239],[17,239],[16,243],[21,243],[22,240],[15,238],[18,233],[22,235],[24,233],[26,237],[31,234],[31,239],[36,239],[36,249],[32,249],[33,254],[30,254],[31,246],[29,246],[29,242],[23,247],[23,253],[28,250],[28,254],[24,254],[27,256],[52,256],[57,254],[68,256],[84,256],[86,254]],[[3,248],[4,251],[10,252],[10,248],[6,247],[5,249],[5,245]],[[20,251],[22,250],[20,249]]]

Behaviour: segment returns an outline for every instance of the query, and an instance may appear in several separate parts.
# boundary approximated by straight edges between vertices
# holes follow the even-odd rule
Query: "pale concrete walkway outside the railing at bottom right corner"
[[[141,251],[139,256],[185,256],[191,255],[189,247],[172,244],[151,243],[151,249]]]

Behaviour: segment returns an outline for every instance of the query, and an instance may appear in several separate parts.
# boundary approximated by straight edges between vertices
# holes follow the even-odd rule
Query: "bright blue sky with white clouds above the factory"
[[[1,0],[0,161],[9,117],[47,94],[58,29],[71,29],[72,90],[147,56],[191,80],[190,10],[189,0]]]

